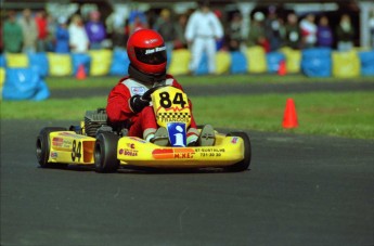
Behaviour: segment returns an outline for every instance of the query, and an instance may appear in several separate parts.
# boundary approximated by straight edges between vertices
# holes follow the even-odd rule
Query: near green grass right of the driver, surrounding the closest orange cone
[[[299,122],[299,127],[292,130],[282,128],[287,98],[295,101]],[[232,95],[224,100],[191,100],[196,105],[196,121],[203,120],[214,126],[374,139],[373,92]]]

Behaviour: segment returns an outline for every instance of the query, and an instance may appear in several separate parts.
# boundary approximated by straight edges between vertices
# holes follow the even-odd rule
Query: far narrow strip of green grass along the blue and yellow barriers
[[[339,82],[345,81],[374,81],[373,77],[360,77],[350,79],[340,78],[309,78],[304,75],[274,76],[270,74],[260,75],[220,75],[220,76],[176,76],[177,80],[184,86],[198,85],[237,85],[237,83],[292,83],[292,82]],[[50,89],[66,88],[112,88],[120,77],[89,77],[83,80],[77,80],[74,77],[49,77],[46,79]]]

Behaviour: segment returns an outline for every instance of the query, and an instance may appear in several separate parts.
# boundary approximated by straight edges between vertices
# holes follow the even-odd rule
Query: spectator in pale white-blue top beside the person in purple
[[[68,34],[72,52],[88,51],[90,42],[80,15],[76,14],[72,17],[72,23],[68,27]]]

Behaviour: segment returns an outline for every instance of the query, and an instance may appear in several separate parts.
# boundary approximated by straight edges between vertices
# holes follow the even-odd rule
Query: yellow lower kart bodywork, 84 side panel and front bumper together
[[[49,135],[48,163],[93,165],[96,139],[74,131]],[[136,137],[118,141],[117,159],[121,166],[156,168],[202,168],[231,166],[244,158],[244,143],[238,137],[216,134],[215,146],[164,147]]]

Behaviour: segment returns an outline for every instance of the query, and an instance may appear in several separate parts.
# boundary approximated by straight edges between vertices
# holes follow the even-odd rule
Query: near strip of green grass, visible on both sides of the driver
[[[296,104],[299,127],[282,128],[287,98]],[[374,93],[295,93],[193,96],[197,124],[216,128],[327,134],[374,139]],[[42,102],[2,102],[2,119],[82,120],[87,109],[106,105],[106,98],[50,99]]]

